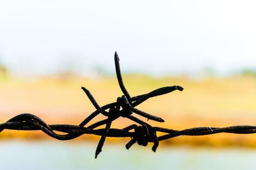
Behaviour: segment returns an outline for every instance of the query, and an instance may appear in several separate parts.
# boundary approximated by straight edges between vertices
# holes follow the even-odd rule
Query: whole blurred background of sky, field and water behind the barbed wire
[[[154,126],[186,129],[256,123],[255,1],[1,1],[0,120],[32,113],[47,124],[80,124],[122,96],[120,58],[131,96],[180,85],[139,109],[162,117]],[[92,122],[102,120],[103,116]],[[119,118],[113,127],[131,124]],[[255,134],[180,136],[156,153],[99,136],[57,141],[41,131],[0,133],[4,169],[254,168]],[[15,155],[15,156],[13,156]],[[253,159],[253,160],[252,160]],[[13,164],[13,165],[11,165]]]

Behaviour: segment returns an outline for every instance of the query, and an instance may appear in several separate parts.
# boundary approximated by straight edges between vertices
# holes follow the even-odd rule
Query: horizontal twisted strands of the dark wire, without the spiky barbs
[[[19,117],[19,120],[16,120]],[[67,124],[56,124],[48,125],[41,118],[36,117],[30,113],[23,113],[17,115],[12,119],[8,120],[6,123],[0,124],[0,132],[4,129],[11,130],[22,130],[22,131],[43,131],[45,134],[51,136],[52,138],[59,140],[70,140],[77,138],[83,134],[95,134],[97,136],[102,136],[105,129],[91,129],[89,127],[81,127],[79,125],[67,125]],[[29,119],[30,118],[30,119]],[[37,120],[40,120],[38,122]],[[134,128],[132,128],[134,129]],[[184,129],[181,131],[166,129],[163,127],[149,127],[151,131],[165,132],[167,134],[157,137],[159,141],[174,138],[177,136],[202,136],[209,134],[217,134],[221,132],[233,133],[233,134],[254,134],[256,133],[256,126],[253,125],[236,125],[229,127],[193,127],[189,129]],[[149,130],[148,129],[148,130]],[[109,129],[106,136],[115,138],[134,138],[136,131],[129,132],[131,129]],[[68,134],[57,134],[56,132],[66,132]],[[149,142],[153,142],[149,140]]]

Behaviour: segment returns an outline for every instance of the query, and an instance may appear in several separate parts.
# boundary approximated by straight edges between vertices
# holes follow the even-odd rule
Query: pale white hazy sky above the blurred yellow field
[[[256,67],[256,1],[0,1],[0,60],[15,73],[221,74]],[[146,66],[145,64],[148,64]]]

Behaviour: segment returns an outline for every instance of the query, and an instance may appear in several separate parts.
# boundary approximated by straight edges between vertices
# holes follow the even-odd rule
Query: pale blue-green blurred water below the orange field
[[[1,169],[255,169],[256,150],[244,148],[150,147],[106,143],[1,141]]]

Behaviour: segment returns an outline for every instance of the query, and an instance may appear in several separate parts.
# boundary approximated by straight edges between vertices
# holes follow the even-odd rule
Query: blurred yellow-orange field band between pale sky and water
[[[129,74],[124,83],[131,96],[145,94],[159,87],[180,85],[183,92],[175,91],[154,97],[138,108],[165,120],[154,126],[182,130],[190,127],[225,127],[256,124],[256,78],[233,76],[229,78],[202,78],[191,80],[186,76],[152,78]],[[77,76],[15,78],[0,81],[0,121],[20,113],[32,113],[47,124],[79,124],[95,109],[81,90],[86,87],[103,106],[122,96],[115,78],[105,76],[91,79]],[[136,117],[139,117],[136,115]],[[93,122],[104,118],[99,116]],[[147,121],[147,120],[146,120]],[[91,123],[90,123],[91,124]],[[131,121],[119,118],[112,127],[125,127]],[[0,133],[1,139],[51,139],[41,131],[10,131]],[[76,140],[99,140],[99,136],[83,135]],[[108,139],[113,142],[129,139]],[[209,145],[256,147],[255,134],[213,134],[210,136],[180,136],[162,141],[166,145]]]

